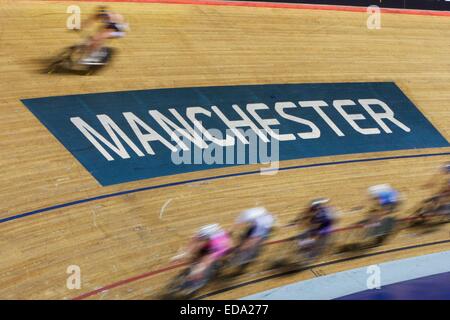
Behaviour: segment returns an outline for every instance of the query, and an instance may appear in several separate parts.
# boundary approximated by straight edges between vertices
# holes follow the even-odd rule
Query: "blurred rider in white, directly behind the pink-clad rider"
[[[238,245],[239,250],[248,250],[260,245],[272,232],[275,219],[266,208],[258,207],[243,211],[236,220],[234,229],[245,228]]]

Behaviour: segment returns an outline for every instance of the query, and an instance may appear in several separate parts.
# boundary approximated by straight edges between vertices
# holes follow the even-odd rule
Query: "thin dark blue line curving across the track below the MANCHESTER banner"
[[[252,175],[252,174],[258,174],[261,172],[270,172],[270,171],[287,171],[287,170],[295,170],[295,169],[305,169],[305,168],[314,168],[314,167],[324,167],[324,166],[331,166],[331,165],[340,165],[340,164],[349,164],[349,163],[359,163],[359,162],[372,162],[372,161],[385,161],[385,160],[397,160],[397,159],[410,159],[410,158],[425,158],[425,157],[435,157],[435,156],[445,156],[450,155],[450,152],[442,152],[442,153],[429,153],[429,154],[414,154],[414,155],[404,155],[404,156],[391,156],[391,157],[379,157],[379,158],[368,158],[368,159],[353,159],[353,160],[343,160],[343,161],[335,161],[335,162],[322,162],[322,163],[315,163],[315,164],[306,164],[306,165],[298,165],[298,166],[290,166],[290,167],[284,167],[279,169],[269,169],[269,170],[254,170],[254,171],[246,171],[246,172],[239,172],[239,173],[231,173],[231,174],[224,174],[224,175],[218,175],[213,177],[206,177],[206,178],[198,178],[198,179],[191,179],[191,180],[184,180],[184,181],[178,181],[178,182],[172,182],[172,183],[165,183],[155,186],[148,186],[148,187],[142,187],[137,189],[131,189],[131,190],[125,190],[115,193],[109,193],[104,194],[101,196],[91,197],[91,198],[85,198],[80,199],[76,201],[66,202],[46,208],[41,208],[25,213],[20,213],[17,215],[13,215],[10,217],[6,217],[3,219],[0,219],[0,223],[17,220],[21,218],[25,218],[28,216],[33,216],[39,213],[49,212],[61,208],[71,207],[82,203],[102,200],[102,199],[108,199],[113,197],[118,197],[126,194],[132,194],[142,191],[148,191],[148,190],[154,190],[154,189],[162,189],[162,188],[168,188],[168,187],[174,187],[179,185],[185,185],[189,183],[195,183],[195,182],[201,182],[201,181],[209,181],[209,180],[217,180],[217,179],[224,179],[224,178],[231,178],[231,177],[239,177],[239,176],[246,176],[246,175]]]

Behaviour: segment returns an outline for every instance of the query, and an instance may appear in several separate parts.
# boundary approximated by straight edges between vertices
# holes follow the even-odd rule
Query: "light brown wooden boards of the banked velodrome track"
[[[401,212],[407,215],[433,192],[423,185],[449,159],[450,149],[444,148],[286,161],[282,167],[392,157],[273,176],[182,183],[17,217],[119,191],[258,168],[101,187],[26,109],[22,98],[214,85],[395,81],[450,140],[450,17],[386,13],[382,29],[368,30],[365,12],[112,3],[131,26],[127,37],[114,44],[120,52],[113,65],[94,76],[42,74],[43,59],[79,41],[65,29],[66,8],[74,3],[0,0],[0,218],[17,218],[0,223],[2,299],[157,298],[180,270],[164,271],[169,259],[202,224],[216,221],[229,227],[240,210],[255,204],[265,205],[283,224],[311,198],[327,196],[345,213],[339,222],[345,226],[361,218],[361,212],[351,209],[364,203],[366,188],[384,182],[407,196]],[[77,4],[83,12],[96,5]],[[272,240],[286,236],[277,231]],[[408,231],[372,252],[449,238],[448,226],[426,234]],[[250,283],[270,275],[264,271],[267,261],[280,248],[281,244],[267,246],[248,274],[212,284],[204,293],[216,293],[209,298],[239,298],[317,275],[449,250],[450,243],[394,250]],[[80,290],[66,288],[69,265],[81,268]],[[246,285],[220,292],[242,283]],[[94,291],[99,288],[108,290]]]

